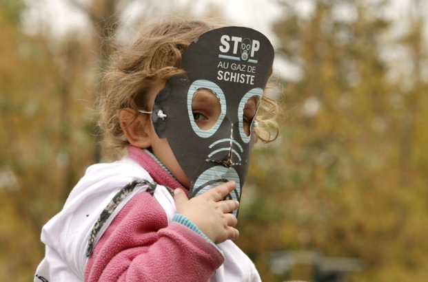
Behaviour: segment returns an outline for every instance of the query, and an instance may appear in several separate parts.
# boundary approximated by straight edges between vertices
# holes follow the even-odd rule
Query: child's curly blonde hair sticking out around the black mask
[[[172,76],[185,74],[180,69],[181,54],[185,48],[201,34],[222,26],[209,19],[170,18],[145,25],[132,45],[117,48],[110,58],[110,68],[103,76],[101,94],[97,100],[98,125],[103,133],[101,144],[107,157],[114,159],[123,155],[123,149],[130,144],[121,129],[121,110],[150,111],[147,107],[150,89],[159,81],[165,82]],[[278,81],[274,81],[273,85],[278,85]],[[277,88],[269,87],[268,83],[265,94]],[[256,116],[259,124],[255,130],[256,139],[268,143],[278,137],[275,119],[278,112],[278,103],[263,95]]]

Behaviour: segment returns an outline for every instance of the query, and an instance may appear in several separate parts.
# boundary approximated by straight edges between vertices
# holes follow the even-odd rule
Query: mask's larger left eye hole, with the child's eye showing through
[[[211,89],[197,89],[192,97],[192,115],[199,129],[212,129],[221,115],[220,98]]]

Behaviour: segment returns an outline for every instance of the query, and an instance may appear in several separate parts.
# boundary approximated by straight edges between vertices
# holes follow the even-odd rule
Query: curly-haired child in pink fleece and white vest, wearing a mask
[[[188,19],[117,52],[99,125],[125,156],[90,166],[43,226],[34,281],[260,281],[231,240],[254,136],[278,132],[273,58],[255,30]]]

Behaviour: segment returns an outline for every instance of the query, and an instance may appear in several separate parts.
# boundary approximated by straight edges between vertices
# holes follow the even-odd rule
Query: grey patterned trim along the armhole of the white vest
[[[103,212],[99,216],[99,218],[96,220],[94,227],[92,228],[92,231],[89,236],[88,240],[88,249],[86,250],[86,257],[90,257],[92,254],[92,251],[94,250],[94,243],[95,239],[98,236],[101,228],[107,221],[107,219],[112,215],[114,210],[119,206],[119,204],[122,202],[125,197],[130,195],[132,191],[134,191],[134,188],[137,185],[147,185],[146,192],[150,193],[150,195],[153,195],[154,190],[156,189],[157,184],[154,182],[149,182],[148,180],[134,180],[133,182],[130,182],[129,184],[125,185],[123,188],[121,188],[121,191],[116,193],[114,195],[113,199],[108,203],[108,205],[104,208]]]

